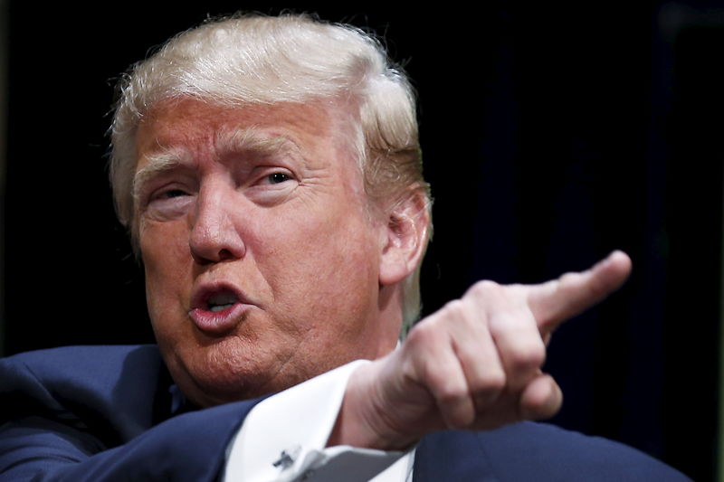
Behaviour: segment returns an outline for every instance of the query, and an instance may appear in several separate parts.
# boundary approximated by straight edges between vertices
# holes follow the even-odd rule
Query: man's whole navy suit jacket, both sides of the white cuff
[[[0,481],[216,480],[259,400],[189,411],[172,407],[173,387],[155,345],[0,360]],[[531,422],[433,433],[415,452],[415,482],[529,480],[688,479],[624,445]]]

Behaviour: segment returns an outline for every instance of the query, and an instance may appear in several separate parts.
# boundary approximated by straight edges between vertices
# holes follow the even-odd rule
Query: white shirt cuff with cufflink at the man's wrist
[[[404,452],[326,448],[358,360],[258,403],[230,444],[224,482],[367,481]]]

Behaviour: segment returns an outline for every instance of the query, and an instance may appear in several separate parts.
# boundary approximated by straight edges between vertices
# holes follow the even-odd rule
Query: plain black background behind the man
[[[626,250],[625,288],[550,346],[555,421],[713,480],[724,2],[628,4],[287,6],[385,34],[414,79],[435,198],[425,313],[475,279],[538,282]],[[5,354],[149,342],[107,183],[113,79],[206,14],[280,9],[9,5]]]

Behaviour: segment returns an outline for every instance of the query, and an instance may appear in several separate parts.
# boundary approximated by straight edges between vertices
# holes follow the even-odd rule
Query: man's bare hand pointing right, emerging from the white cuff
[[[630,270],[628,256],[614,251],[539,285],[476,283],[414,326],[400,349],[357,369],[329,444],[405,449],[435,430],[551,417],[562,393],[541,370],[549,337]]]

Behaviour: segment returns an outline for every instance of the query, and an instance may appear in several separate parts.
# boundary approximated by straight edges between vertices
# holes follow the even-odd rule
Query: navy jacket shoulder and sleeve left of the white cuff
[[[216,480],[258,401],[157,423],[155,347],[98,348],[0,360],[0,481]]]

